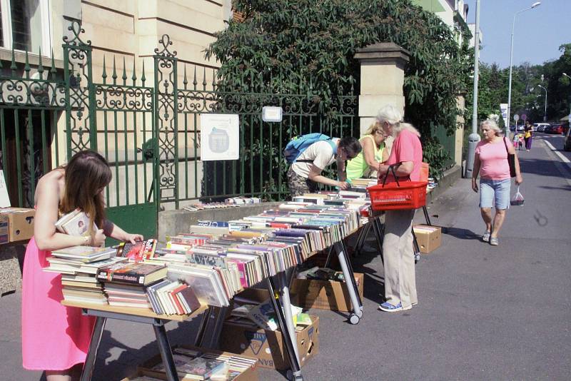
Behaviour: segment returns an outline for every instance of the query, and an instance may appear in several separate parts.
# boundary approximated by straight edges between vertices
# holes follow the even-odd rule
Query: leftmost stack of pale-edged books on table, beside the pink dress
[[[108,265],[126,262],[127,258],[115,257],[113,248],[74,246],[54,250],[46,258],[49,266],[45,271],[61,273],[64,300],[106,305],[107,298],[102,285],[96,279],[99,269]]]

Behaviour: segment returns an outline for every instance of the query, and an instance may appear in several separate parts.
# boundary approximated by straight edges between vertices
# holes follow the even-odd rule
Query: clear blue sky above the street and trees
[[[510,66],[510,36],[514,14],[537,0],[480,0],[480,31],[483,49],[480,62],[500,68]],[[476,22],[476,0],[470,6],[468,23]],[[561,56],[559,46],[571,43],[571,0],[541,0],[541,5],[517,14],[513,40],[513,64],[543,64]]]

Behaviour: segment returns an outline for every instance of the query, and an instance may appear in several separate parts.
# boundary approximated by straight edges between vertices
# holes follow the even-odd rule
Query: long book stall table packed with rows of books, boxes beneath
[[[157,248],[156,240],[145,240],[134,245],[122,243],[118,248],[54,250],[44,270],[62,274],[62,304],[96,317],[81,380],[91,379],[108,318],[153,326],[161,366],[158,357],[154,365],[141,365],[141,380],[256,380],[256,366],[261,364],[258,356],[234,354],[238,350],[216,353],[203,346],[211,321],[215,321],[214,341],[222,337],[228,347],[235,342],[224,337],[236,333],[235,327],[273,337],[273,341],[268,339],[268,350],[263,350],[271,353],[271,360],[266,359],[268,367],[290,368],[289,378],[302,380],[300,359],[305,361],[318,352],[318,317],[303,313],[290,302],[296,266],[323,250],[329,250],[329,255],[336,253],[340,274],[348,280],[350,321],[356,324],[363,315],[362,280],[359,293],[343,239],[363,225],[360,213],[368,209],[368,201],[365,188],[355,194],[342,192],[304,195],[302,200],[240,220],[199,221],[188,232],[166,237],[166,248]],[[236,296],[243,290],[257,290],[258,299]],[[199,314],[202,321],[195,345],[200,355],[181,357],[180,349],[171,348],[164,325]],[[276,352],[281,352],[281,357]],[[243,375],[228,361],[223,367],[211,366],[214,369],[208,377],[191,373],[198,368],[191,366],[194,362],[204,365],[205,360],[220,360],[218,357],[254,361],[243,369]]]

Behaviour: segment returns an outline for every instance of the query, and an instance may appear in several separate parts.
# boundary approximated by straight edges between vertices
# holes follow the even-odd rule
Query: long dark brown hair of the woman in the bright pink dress
[[[72,156],[64,169],[66,185],[61,212],[69,213],[79,208],[89,215],[89,231],[93,232],[94,223],[103,228],[105,203],[101,190],[111,182],[109,164],[99,153],[86,150]]]

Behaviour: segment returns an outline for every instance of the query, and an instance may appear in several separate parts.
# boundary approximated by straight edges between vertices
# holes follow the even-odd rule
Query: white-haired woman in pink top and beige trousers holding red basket
[[[408,123],[400,123],[402,114],[393,106],[380,109],[377,121],[385,135],[395,138],[387,165],[380,165],[379,178],[395,167],[399,181],[420,181],[420,166],[423,161],[423,147],[420,133]],[[413,250],[414,209],[387,210],[385,212],[385,238],[383,259],[385,270],[385,303],[380,310],[390,313],[410,310],[418,303],[416,295],[415,258]]]

